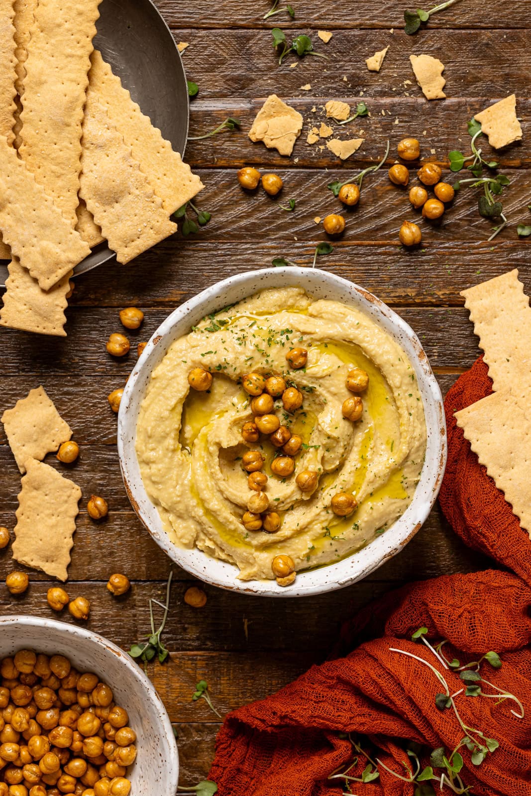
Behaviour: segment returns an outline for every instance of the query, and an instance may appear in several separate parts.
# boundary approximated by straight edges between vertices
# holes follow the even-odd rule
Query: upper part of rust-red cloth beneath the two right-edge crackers
[[[512,569],[531,586],[531,540],[521,529],[503,493],[455,422],[454,412],[490,395],[492,380],[479,357],[444,399],[448,461],[439,502],[447,521],[469,547],[481,550]]]

